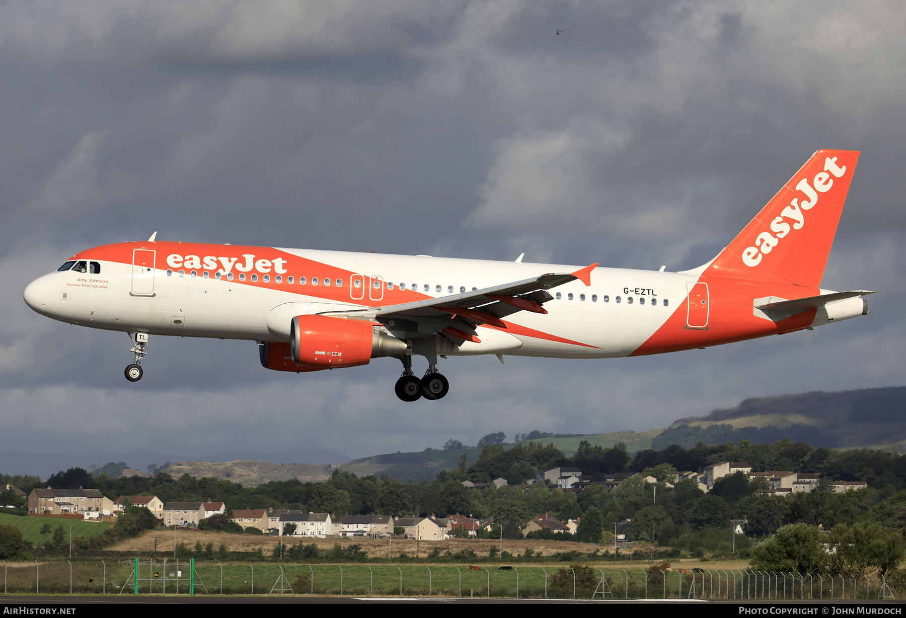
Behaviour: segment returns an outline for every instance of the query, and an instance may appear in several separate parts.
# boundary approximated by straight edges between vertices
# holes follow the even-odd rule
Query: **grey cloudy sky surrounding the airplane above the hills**
[[[904,31],[906,6],[877,2],[4,3],[0,471],[361,457],[903,385]],[[450,395],[403,404],[395,360],[284,375],[241,341],[155,338],[130,384],[125,335],[22,299],[73,252],[156,230],[683,270],[822,147],[863,153],[823,287],[882,293],[783,338],[450,359]]]

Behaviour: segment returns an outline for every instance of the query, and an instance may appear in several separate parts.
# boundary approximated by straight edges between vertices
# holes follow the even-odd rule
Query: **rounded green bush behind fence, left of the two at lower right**
[[[827,564],[821,531],[808,524],[789,524],[752,551],[751,566],[759,571],[814,574]]]

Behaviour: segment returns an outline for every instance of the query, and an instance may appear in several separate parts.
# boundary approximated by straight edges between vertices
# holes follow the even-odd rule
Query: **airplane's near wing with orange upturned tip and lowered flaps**
[[[547,313],[542,305],[554,299],[547,290],[574,280],[591,285],[591,272],[597,266],[598,264],[592,264],[575,272],[552,272],[535,279],[504,283],[436,299],[342,313],[349,318],[372,319],[382,324],[393,320],[395,328],[404,328],[425,337],[443,332],[455,340],[479,342],[475,330],[477,325],[506,328],[503,318],[517,311]],[[398,322],[402,323],[397,324]]]

